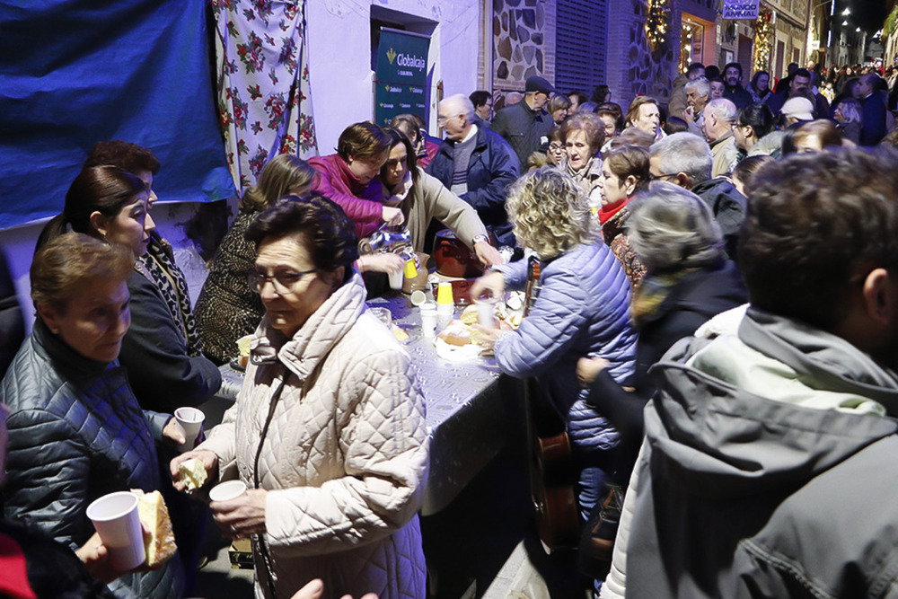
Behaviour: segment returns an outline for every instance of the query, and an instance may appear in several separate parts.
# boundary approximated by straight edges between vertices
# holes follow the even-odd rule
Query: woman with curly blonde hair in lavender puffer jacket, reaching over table
[[[595,231],[583,192],[552,167],[525,174],[506,201],[515,236],[541,260],[540,294],[517,330],[483,330],[502,372],[536,377],[565,418],[581,471],[578,503],[588,515],[598,500],[617,432],[585,404],[577,360],[603,357],[622,382],[633,373],[636,333],[630,328],[630,286],[621,264]],[[527,261],[494,267],[471,286],[471,297],[524,287]]]

